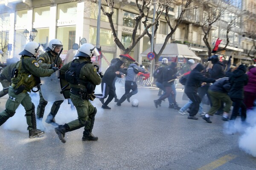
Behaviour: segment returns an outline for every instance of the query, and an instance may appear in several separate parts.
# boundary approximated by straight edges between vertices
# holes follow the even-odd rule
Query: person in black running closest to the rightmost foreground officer
[[[112,101],[115,96],[115,91],[113,88],[113,81],[117,77],[124,77],[123,74],[119,71],[120,68],[124,67],[124,62],[122,60],[116,61],[115,65],[111,65],[106,71],[102,78],[102,94],[96,94],[95,96],[99,98],[100,102],[102,102],[103,109],[111,109],[108,107],[108,104]],[[106,102],[104,99],[107,98]]]

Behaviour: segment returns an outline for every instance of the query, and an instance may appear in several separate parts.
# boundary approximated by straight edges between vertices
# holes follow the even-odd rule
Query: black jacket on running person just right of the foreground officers
[[[116,74],[116,71],[119,71],[120,66],[123,64],[121,60],[118,60],[115,65],[111,65],[105,72],[102,82],[106,83],[108,86],[112,87],[112,82],[114,78],[121,77],[121,74]]]

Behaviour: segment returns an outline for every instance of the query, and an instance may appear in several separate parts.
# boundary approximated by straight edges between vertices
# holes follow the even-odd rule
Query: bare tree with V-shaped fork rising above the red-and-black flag
[[[166,2],[168,2],[168,1],[166,1]],[[122,6],[126,5],[125,3],[127,3],[127,2],[125,0],[123,0]],[[113,34],[113,40],[116,43],[116,45],[118,46],[118,48],[120,49],[121,54],[128,54],[129,52],[131,52],[131,50],[135,47],[135,45],[137,45],[137,43],[140,41],[140,39],[143,36],[145,36],[148,28],[153,26],[159,20],[161,14],[163,13],[164,6],[166,5],[166,3],[159,3],[157,10],[156,10],[157,16],[155,18],[154,23],[148,22],[148,16],[152,15],[151,14],[152,4],[153,4],[153,0],[135,0],[137,16],[134,18],[135,23],[133,26],[133,32],[132,32],[132,36],[131,36],[131,44],[128,46],[128,48],[125,48],[125,46],[122,44],[122,42],[117,37],[116,29],[113,24],[112,15],[113,15],[114,0],[105,0],[104,5],[109,7],[109,9],[110,9],[109,12],[106,11],[104,6],[101,4],[101,9],[102,9],[103,14],[108,17],[111,31]],[[131,6],[129,3],[127,5]],[[144,31],[140,35],[137,35],[137,31],[138,31],[140,22],[142,22],[142,21],[143,21],[143,23],[145,23]]]

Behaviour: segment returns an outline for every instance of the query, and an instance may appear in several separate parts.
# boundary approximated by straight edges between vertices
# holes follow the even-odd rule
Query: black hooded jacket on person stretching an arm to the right
[[[204,66],[199,63],[191,71],[186,80],[185,93],[197,93],[202,82],[215,82],[215,79],[204,77],[204,74],[201,73],[203,70]]]

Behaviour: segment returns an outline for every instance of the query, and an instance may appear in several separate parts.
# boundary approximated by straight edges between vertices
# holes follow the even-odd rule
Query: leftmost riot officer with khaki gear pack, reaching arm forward
[[[37,129],[35,119],[35,105],[31,101],[28,92],[31,91],[40,81],[39,77],[50,76],[57,71],[57,67],[44,69],[39,67],[35,60],[38,55],[40,44],[37,42],[28,42],[24,50],[20,52],[20,61],[15,65],[12,71],[12,85],[9,87],[9,99],[6,102],[6,109],[0,113],[0,126],[7,119],[15,114],[16,109],[21,104],[26,111],[26,122],[29,125],[29,138],[35,138],[44,134],[44,131]]]

